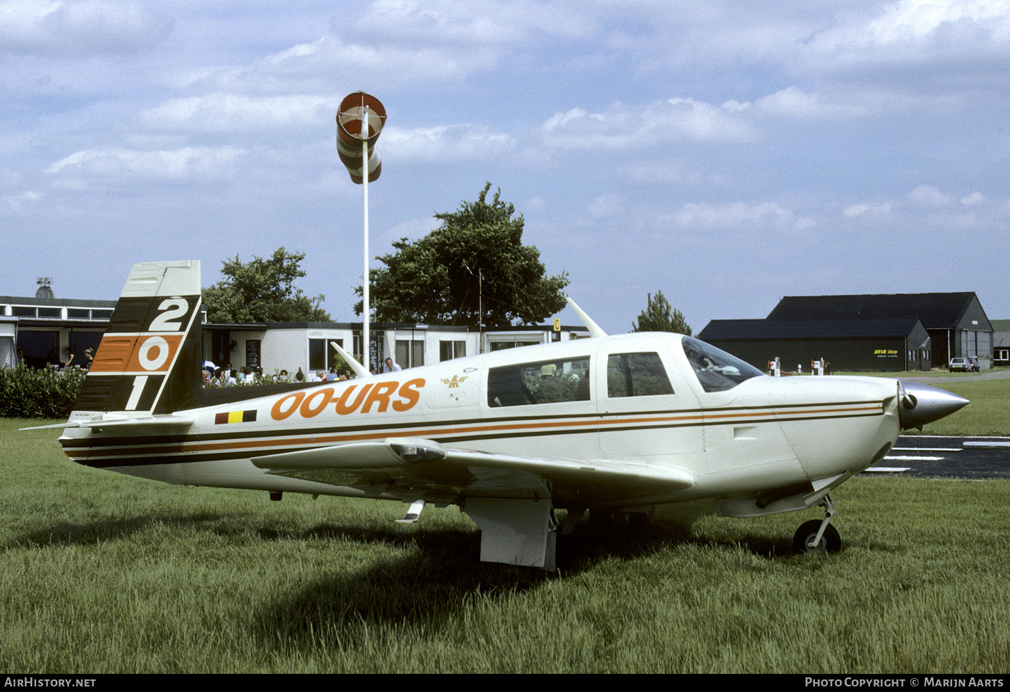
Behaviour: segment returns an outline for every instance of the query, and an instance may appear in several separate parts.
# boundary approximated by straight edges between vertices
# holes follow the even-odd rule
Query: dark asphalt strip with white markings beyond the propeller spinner
[[[872,472],[875,475],[893,473],[972,480],[1010,478],[1010,437],[903,435],[898,437],[891,453],[873,468],[880,470]]]

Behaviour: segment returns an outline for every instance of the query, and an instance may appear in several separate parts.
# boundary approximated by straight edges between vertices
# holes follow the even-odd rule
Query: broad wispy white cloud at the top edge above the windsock
[[[244,67],[199,75],[202,90],[320,92],[334,83],[381,91],[404,84],[463,81],[558,40],[592,37],[594,12],[553,0],[379,0],[335,13],[329,31]],[[549,50],[549,48],[548,48]]]

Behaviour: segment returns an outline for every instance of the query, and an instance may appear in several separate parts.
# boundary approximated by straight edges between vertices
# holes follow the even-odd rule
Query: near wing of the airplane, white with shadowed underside
[[[553,498],[556,505],[632,501],[690,488],[690,471],[614,460],[571,461],[389,437],[252,460],[269,473],[362,489],[368,496]]]

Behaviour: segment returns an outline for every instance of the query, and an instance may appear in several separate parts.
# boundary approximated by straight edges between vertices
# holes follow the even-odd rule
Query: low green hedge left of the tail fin
[[[27,366],[0,370],[0,416],[65,418],[70,415],[87,372],[59,372]]]

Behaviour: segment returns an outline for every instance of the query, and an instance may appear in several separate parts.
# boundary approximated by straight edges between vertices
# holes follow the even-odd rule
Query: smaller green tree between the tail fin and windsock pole
[[[309,298],[293,286],[305,276],[299,263],[305,254],[278,249],[268,260],[254,257],[242,264],[235,255],[221,268],[227,277],[203,290],[209,322],[328,322],[319,307],[323,296]]]

